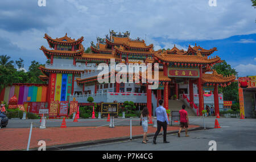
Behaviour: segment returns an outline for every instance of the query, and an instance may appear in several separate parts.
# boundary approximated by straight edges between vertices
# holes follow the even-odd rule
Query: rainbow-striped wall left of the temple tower
[[[19,84],[7,86],[0,93],[0,101],[5,101],[8,104],[14,94],[18,99],[18,105],[23,105],[23,102],[46,102],[47,85]]]

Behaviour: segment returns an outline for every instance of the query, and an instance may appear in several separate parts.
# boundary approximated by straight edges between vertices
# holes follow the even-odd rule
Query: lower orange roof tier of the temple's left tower
[[[46,47],[42,46],[40,49],[44,52],[44,55],[46,55],[47,59],[51,59],[51,55],[73,57],[82,56],[82,53],[84,53],[84,48],[81,48],[77,51],[61,51],[54,49],[46,49]]]

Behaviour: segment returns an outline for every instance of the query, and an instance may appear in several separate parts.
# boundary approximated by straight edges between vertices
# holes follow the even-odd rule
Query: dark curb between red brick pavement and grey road
[[[206,129],[209,130],[212,128],[206,128]],[[203,127],[191,128],[191,129],[188,129],[188,132],[199,131],[199,130],[204,130],[204,128]],[[167,131],[167,135],[177,134],[177,132],[178,132],[178,130]],[[181,132],[184,132],[184,130]],[[152,137],[154,135],[155,135],[154,133],[151,133],[151,134],[148,134],[147,137]],[[143,135],[133,136],[133,139],[139,139],[139,138],[143,138]],[[46,150],[47,151],[61,151],[63,149],[68,149],[68,148],[93,146],[93,145],[97,145],[97,144],[107,144],[107,143],[114,143],[114,142],[123,142],[123,141],[127,141],[127,140],[131,140],[130,137],[125,136],[125,137],[121,137],[121,138],[93,140],[93,141],[86,141],[86,142],[79,142],[79,143],[68,143],[68,144],[60,144],[60,145],[56,145],[56,146],[49,146],[49,147],[46,147]],[[38,148],[30,149],[30,151],[37,151],[37,150],[38,150]]]

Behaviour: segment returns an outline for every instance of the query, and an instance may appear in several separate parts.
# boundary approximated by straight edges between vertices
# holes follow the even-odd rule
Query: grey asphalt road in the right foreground
[[[197,121],[195,120],[197,119]],[[200,123],[200,118],[192,118],[191,122]],[[207,127],[214,127],[214,118],[205,119]],[[142,139],[118,142],[111,144],[101,144],[98,146],[87,146],[73,148],[69,150],[80,151],[159,151],[159,150],[201,150],[209,149],[209,141],[214,140],[217,143],[217,150],[256,150],[256,119],[238,119],[238,118],[221,118],[218,119],[221,125],[219,129],[201,130],[189,132],[189,137],[184,133],[181,138],[177,135],[168,135],[167,140],[170,143],[163,143],[163,137],[159,136],[156,142],[152,144],[152,138],[147,144],[142,144]]]

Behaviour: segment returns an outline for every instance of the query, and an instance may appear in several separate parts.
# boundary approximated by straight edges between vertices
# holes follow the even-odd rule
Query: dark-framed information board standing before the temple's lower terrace
[[[108,117],[108,114],[114,117],[118,116],[118,103],[101,103],[102,117]]]

